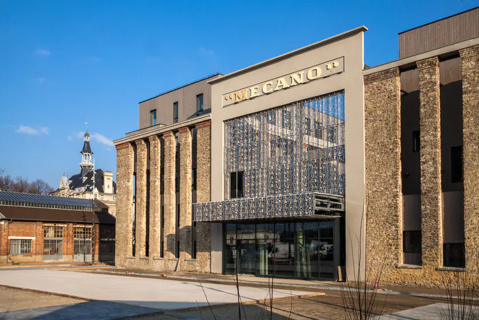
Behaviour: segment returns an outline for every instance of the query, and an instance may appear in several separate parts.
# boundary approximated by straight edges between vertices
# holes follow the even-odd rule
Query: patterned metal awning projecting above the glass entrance
[[[325,193],[270,195],[193,204],[193,212],[197,222],[328,217],[344,212],[344,197]]]

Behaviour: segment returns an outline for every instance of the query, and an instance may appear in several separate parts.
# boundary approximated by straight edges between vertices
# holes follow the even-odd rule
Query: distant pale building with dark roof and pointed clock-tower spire
[[[60,186],[51,195],[59,197],[73,197],[81,199],[99,199],[104,202],[109,213],[116,214],[116,183],[111,171],[94,169],[92,161],[92,148],[90,147],[90,134],[84,135],[81,153],[80,173],[72,175],[69,179],[65,173],[60,179]],[[93,183],[94,180],[94,183]]]

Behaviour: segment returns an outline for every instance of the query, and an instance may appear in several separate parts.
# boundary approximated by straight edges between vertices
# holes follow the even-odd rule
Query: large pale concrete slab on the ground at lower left
[[[203,293],[197,282],[71,271],[3,270],[0,271],[0,284],[161,310],[207,306],[205,295],[211,305],[237,302],[236,287],[225,284],[203,284]],[[244,302],[262,300],[267,297],[268,289],[242,286],[239,293]],[[274,290],[274,297],[309,294],[311,292]]]

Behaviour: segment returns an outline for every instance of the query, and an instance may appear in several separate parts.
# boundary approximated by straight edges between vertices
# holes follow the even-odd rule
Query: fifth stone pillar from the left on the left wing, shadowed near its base
[[[192,132],[179,129],[180,139],[180,258],[192,257]]]

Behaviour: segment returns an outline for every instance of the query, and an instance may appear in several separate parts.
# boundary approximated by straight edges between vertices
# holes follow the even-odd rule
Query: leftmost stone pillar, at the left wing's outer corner
[[[133,169],[135,156],[129,143],[116,146],[115,263],[125,265],[133,254]],[[73,251],[72,251],[73,254]]]

